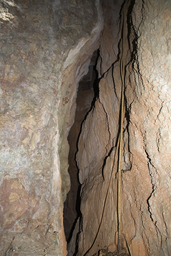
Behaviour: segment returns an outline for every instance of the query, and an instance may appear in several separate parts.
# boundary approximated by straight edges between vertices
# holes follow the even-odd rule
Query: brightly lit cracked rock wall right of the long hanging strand
[[[130,19],[136,50],[125,95],[133,160],[131,172],[123,174],[123,192],[135,231],[126,221],[124,226],[139,255],[171,253],[170,15],[170,1],[136,1]]]

